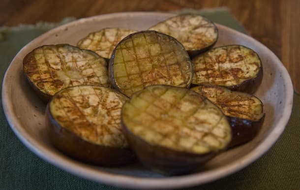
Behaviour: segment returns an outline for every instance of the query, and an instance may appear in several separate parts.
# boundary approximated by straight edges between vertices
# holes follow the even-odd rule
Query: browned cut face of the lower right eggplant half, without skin
[[[263,104],[254,95],[217,86],[199,86],[192,90],[210,99],[226,116],[251,121],[259,121],[264,116]]]

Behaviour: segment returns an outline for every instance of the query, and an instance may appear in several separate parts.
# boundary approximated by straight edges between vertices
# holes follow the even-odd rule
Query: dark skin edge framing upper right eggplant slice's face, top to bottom
[[[239,45],[239,44],[224,45],[224,46],[219,46],[219,47],[214,47],[214,48],[221,48],[221,47],[233,46],[233,45],[248,48],[246,46]],[[248,48],[248,49],[252,50],[251,48]],[[239,91],[239,92],[248,93],[248,94],[251,94],[251,95],[253,95],[257,91],[258,87],[261,85],[261,83],[263,81],[264,71],[263,71],[263,63],[262,63],[259,55],[254,50],[252,50],[252,51],[257,55],[257,57],[258,57],[258,59],[261,63],[260,69],[259,69],[256,77],[247,79],[247,80],[243,81],[242,83],[240,83],[238,85],[222,86],[222,87],[225,87],[225,88],[227,88],[231,91]],[[198,56],[201,56],[201,55],[198,55]],[[192,84],[191,86],[196,87],[198,85],[212,85],[212,84]]]

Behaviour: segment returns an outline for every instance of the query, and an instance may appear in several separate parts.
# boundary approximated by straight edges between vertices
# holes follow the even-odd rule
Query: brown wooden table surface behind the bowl
[[[227,6],[258,41],[288,69],[300,92],[300,0],[0,0],[0,25],[59,22],[124,11],[171,11]]]

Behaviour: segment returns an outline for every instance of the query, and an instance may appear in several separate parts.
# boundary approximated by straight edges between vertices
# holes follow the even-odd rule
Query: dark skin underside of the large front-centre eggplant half
[[[199,155],[151,145],[134,135],[122,122],[122,131],[137,158],[147,168],[167,176],[183,175],[202,167],[218,152]]]

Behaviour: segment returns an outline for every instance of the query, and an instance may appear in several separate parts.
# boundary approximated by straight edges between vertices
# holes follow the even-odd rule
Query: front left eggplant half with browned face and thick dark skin
[[[134,154],[121,131],[121,107],[128,98],[99,86],[61,90],[46,108],[53,145],[66,155],[101,166],[120,166]]]

